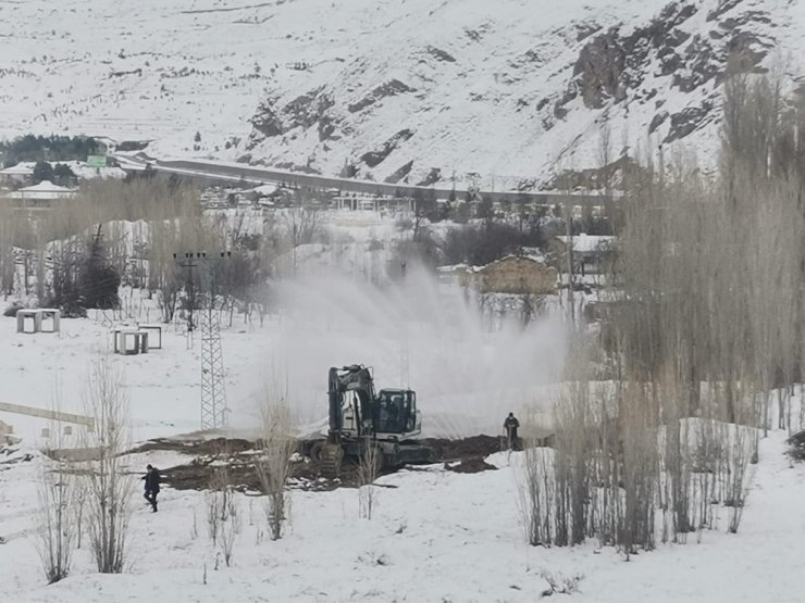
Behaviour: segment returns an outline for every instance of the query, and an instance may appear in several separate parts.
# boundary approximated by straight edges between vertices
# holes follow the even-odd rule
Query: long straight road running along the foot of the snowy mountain
[[[322,189],[337,189],[343,192],[356,192],[362,194],[379,194],[384,197],[411,197],[416,191],[429,191],[435,193],[437,199],[447,199],[453,192],[449,188],[420,187],[411,185],[394,185],[387,183],[373,183],[370,180],[355,180],[349,178],[335,178],[330,176],[320,176],[317,174],[304,174],[300,172],[289,172],[286,169],[275,169],[272,167],[257,167],[252,165],[233,165],[231,163],[216,163],[213,161],[194,161],[194,160],[160,160],[150,158],[145,153],[112,155],[123,169],[141,171],[150,166],[157,172],[169,174],[178,174],[191,179],[211,183],[215,180],[248,183],[285,183],[295,186],[305,186]],[[555,205],[562,203],[566,199],[571,198],[573,205],[594,205],[600,206],[606,203],[608,198],[604,194],[590,193],[562,193],[562,192],[518,192],[518,191],[499,191],[499,190],[481,190],[481,196],[490,199],[492,202],[518,202],[528,199],[543,205]],[[467,194],[466,190],[456,190],[456,194],[462,198]]]

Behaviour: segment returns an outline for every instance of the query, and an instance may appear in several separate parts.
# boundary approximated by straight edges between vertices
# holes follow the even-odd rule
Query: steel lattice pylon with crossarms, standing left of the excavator
[[[176,254],[174,254],[174,257]],[[221,316],[215,310],[218,294],[216,268],[231,256],[231,252],[221,252],[218,256],[208,256],[205,252],[185,253],[182,267],[187,269],[188,287],[193,288],[194,271],[200,268],[200,287],[203,292],[203,307],[199,311],[201,327],[201,429],[218,429],[228,423],[226,388],[224,380],[224,357],[221,349]],[[195,290],[190,298],[190,309],[195,305]],[[193,318],[190,312],[190,324]]]

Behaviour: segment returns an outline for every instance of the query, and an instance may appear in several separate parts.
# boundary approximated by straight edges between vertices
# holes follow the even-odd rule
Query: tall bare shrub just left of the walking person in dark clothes
[[[98,571],[119,574],[126,557],[134,485],[122,456],[129,443],[128,399],[109,355],[92,364],[84,402],[95,419],[95,428],[85,431],[85,445],[95,452],[84,477],[89,541]]]

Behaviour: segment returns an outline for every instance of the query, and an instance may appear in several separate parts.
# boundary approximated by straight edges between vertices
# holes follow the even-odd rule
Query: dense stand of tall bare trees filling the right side
[[[738,529],[758,439],[791,430],[805,374],[805,156],[780,90],[730,79],[719,176],[682,153],[624,172],[617,301],[591,354],[611,385],[591,391],[600,377],[582,337],[552,463],[525,453],[530,542],[597,537],[630,555],[652,549],[658,527],[664,541],[684,542],[718,526],[718,504]]]

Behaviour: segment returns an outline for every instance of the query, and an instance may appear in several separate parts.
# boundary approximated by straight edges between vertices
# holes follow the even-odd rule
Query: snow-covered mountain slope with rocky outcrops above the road
[[[803,70],[801,0],[0,3],[0,136],[484,188],[717,146],[728,56]],[[197,136],[198,134],[198,136]]]

